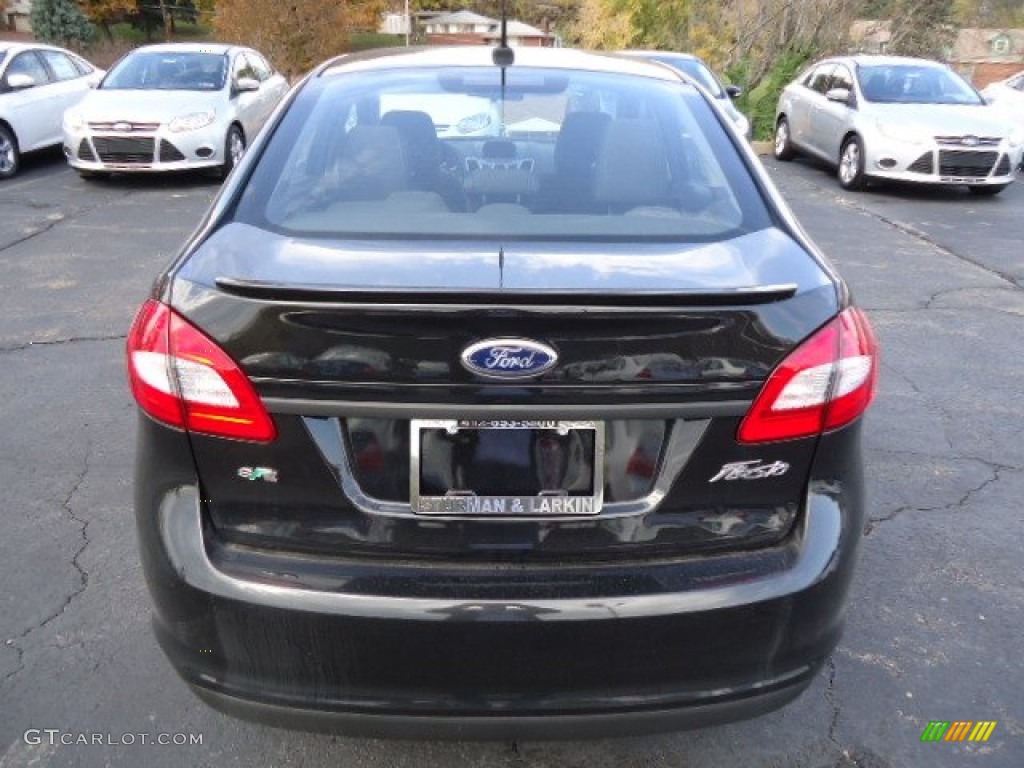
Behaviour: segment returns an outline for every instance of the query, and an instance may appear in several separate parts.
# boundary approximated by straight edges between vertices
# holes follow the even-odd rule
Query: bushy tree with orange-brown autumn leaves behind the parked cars
[[[294,76],[348,50],[351,34],[376,29],[383,8],[383,0],[218,0],[213,29]]]

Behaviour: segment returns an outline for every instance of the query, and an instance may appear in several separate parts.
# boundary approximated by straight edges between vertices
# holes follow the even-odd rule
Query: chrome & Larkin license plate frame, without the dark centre
[[[409,502],[414,514],[424,517],[469,518],[557,518],[586,519],[601,511],[604,502],[604,422],[563,419],[412,419],[410,420]],[[447,492],[443,496],[421,493],[423,467],[422,433],[443,429],[449,434],[462,430],[518,429],[593,432],[591,493],[542,492],[540,495],[477,495]]]

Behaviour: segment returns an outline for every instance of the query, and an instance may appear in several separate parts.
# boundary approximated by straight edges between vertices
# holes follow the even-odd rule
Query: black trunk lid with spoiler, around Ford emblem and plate
[[[777,541],[816,438],[744,446],[735,431],[772,368],[838,311],[825,271],[773,229],[638,253],[370,247],[232,223],[171,295],[240,364],[280,433],[269,444],[191,436],[218,532],[348,557],[648,558]],[[557,365],[504,381],[462,364],[466,347],[503,338],[549,345]],[[599,423],[604,506],[550,519],[414,514],[414,419]],[[524,439],[523,461],[539,461],[540,438]],[[567,443],[549,449],[562,477],[591,471],[565,458],[577,456]]]

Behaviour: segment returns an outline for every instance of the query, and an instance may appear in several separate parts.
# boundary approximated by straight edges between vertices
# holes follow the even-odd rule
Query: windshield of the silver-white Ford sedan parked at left
[[[215,91],[224,87],[227,58],[218,53],[143,51],[122,58],[103,90]]]

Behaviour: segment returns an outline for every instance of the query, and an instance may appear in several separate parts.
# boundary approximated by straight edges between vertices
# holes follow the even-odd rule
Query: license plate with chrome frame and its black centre
[[[416,419],[410,504],[421,515],[585,517],[604,497],[604,422]]]

